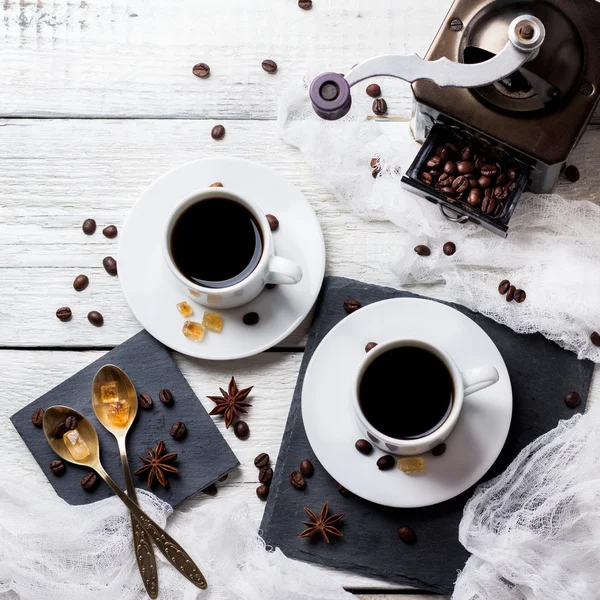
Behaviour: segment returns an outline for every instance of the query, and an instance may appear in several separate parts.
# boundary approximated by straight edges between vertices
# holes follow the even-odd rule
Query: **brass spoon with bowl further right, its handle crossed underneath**
[[[108,407],[110,404],[102,401],[102,384],[114,383],[118,389],[118,398],[120,402],[126,402],[129,406],[128,415],[126,415],[126,422],[122,424],[115,424],[108,416]],[[125,476],[125,487],[127,489],[127,495],[139,505],[137,494],[135,492],[135,485],[133,483],[133,477],[129,470],[129,462],[127,460],[127,448],[125,440],[127,438],[127,432],[133,425],[135,417],[137,415],[137,395],[131,379],[127,374],[115,367],[114,365],[105,365],[102,367],[94,377],[92,383],[92,406],[98,421],[110,431],[117,439],[119,446],[119,454],[121,455],[121,464],[123,465],[123,475]],[[124,419],[125,420],[125,419]],[[137,560],[138,569],[144,582],[144,587],[150,598],[156,598],[158,596],[158,574],[156,571],[156,558],[154,557],[154,549],[148,534],[142,529],[141,525],[131,514],[131,528],[133,531],[133,548],[135,552],[135,559]]]

